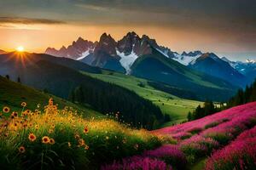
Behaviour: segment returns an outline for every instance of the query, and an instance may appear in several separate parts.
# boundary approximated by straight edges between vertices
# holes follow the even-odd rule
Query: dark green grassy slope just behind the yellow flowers
[[[65,99],[45,94],[42,91],[28,88],[20,83],[11,82],[7,78],[0,77],[0,108],[9,106],[12,111],[21,111],[21,102],[26,102],[26,107],[33,110],[38,107],[38,104],[41,106],[46,105],[49,98],[55,99],[59,107],[73,107],[73,109],[82,112],[83,116],[103,116],[97,111],[90,109],[89,106],[74,105]]]

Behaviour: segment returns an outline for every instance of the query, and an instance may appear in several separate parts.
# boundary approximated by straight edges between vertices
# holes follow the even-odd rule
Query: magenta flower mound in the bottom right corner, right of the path
[[[206,170],[256,169],[256,127],[241,133],[233,142],[215,151]]]

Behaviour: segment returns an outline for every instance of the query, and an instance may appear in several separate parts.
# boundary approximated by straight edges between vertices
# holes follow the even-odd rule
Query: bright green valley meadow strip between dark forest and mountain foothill
[[[145,99],[151,100],[155,105],[160,106],[163,113],[171,116],[172,122],[167,122],[163,126],[168,126],[173,122],[182,122],[186,119],[189,111],[201,105],[202,102],[180,99],[172,94],[167,94],[148,85],[148,81],[142,78],[132,77],[112,71],[102,71],[102,74],[85,73],[91,77],[96,77],[105,82],[112,82],[124,88],[128,88]],[[143,84],[141,87],[139,84]]]

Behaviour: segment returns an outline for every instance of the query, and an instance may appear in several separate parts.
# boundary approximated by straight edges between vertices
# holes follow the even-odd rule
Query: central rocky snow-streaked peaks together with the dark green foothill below
[[[118,42],[110,35],[106,33],[102,34],[93,52],[84,58],[79,57],[78,59],[88,65],[119,71],[137,77],[144,77],[157,82],[164,82],[172,86],[177,86],[178,88],[183,88],[183,90],[192,87],[192,94],[189,94],[189,96],[198,96],[198,99],[228,99],[228,97],[224,97],[224,94],[229,96],[235,93],[235,91],[233,91],[236,89],[235,86],[223,80],[219,80],[218,78],[207,77],[185,66],[195,61],[195,59],[198,59],[201,54],[201,51],[177,54],[170,48],[158,45],[154,39],[146,35],[139,37],[132,31],[128,32],[125,37],[121,38]],[[67,56],[67,54],[65,54],[65,56]],[[148,62],[150,59],[154,60],[156,63]],[[168,63],[167,68],[166,63]],[[142,65],[147,67],[147,71],[141,71]],[[184,74],[184,72],[186,74]],[[190,75],[190,77],[188,75]],[[223,92],[225,90],[229,92],[220,92],[220,96],[215,96],[213,94],[201,93],[201,88],[207,88],[207,92],[210,92],[209,89],[215,92],[214,88],[223,88]],[[217,91],[219,91],[219,89],[217,89]]]

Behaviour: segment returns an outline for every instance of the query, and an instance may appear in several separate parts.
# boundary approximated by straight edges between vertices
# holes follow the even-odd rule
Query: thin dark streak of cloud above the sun
[[[0,17],[0,25],[3,24],[23,24],[23,25],[60,25],[66,24],[61,20],[49,20],[49,19],[32,19],[32,18],[20,18],[20,17]]]

